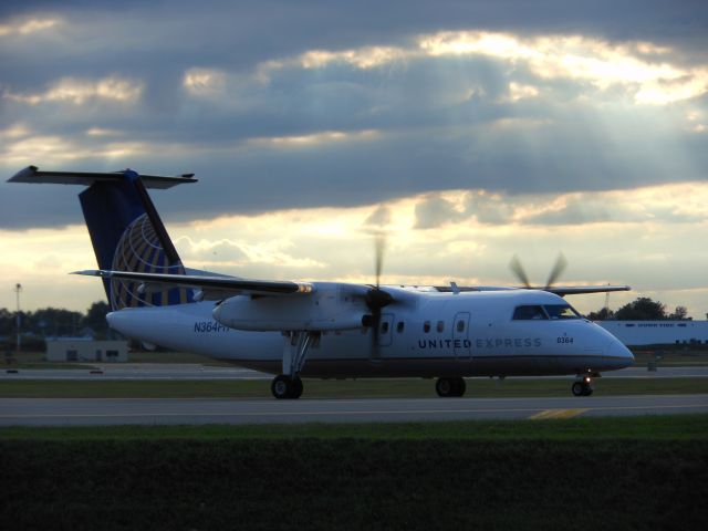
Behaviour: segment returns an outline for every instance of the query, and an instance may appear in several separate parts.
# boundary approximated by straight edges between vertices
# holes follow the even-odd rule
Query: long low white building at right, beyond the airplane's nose
[[[595,321],[627,346],[708,343],[708,321]]]

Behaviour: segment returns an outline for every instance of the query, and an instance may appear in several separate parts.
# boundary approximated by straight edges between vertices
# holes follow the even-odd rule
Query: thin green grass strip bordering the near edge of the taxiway
[[[3,427],[0,440],[594,440],[708,441],[708,414],[549,420],[296,425]]]

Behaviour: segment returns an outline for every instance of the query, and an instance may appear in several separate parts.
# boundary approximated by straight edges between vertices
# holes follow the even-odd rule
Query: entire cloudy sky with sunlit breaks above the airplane
[[[573,6],[577,3],[577,6]],[[163,175],[184,261],[251,278],[626,283],[708,312],[704,1],[6,1],[0,308],[85,310],[73,187]],[[581,311],[604,295],[572,298]]]

